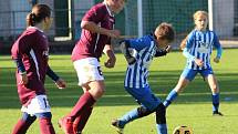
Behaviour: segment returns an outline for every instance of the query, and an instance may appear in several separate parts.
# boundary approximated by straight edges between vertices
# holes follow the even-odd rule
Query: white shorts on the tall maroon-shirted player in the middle
[[[86,58],[73,62],[79,78],[79,85],[91,81],[104,80],[100,62],[95,58]]]

